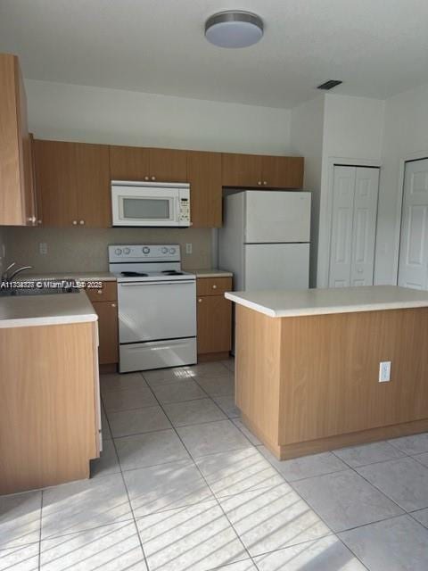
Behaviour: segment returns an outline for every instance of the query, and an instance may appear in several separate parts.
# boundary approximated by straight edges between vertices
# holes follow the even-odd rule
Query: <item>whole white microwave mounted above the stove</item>
[[[188,183],[111,181],[113,226],[190,226]]]

